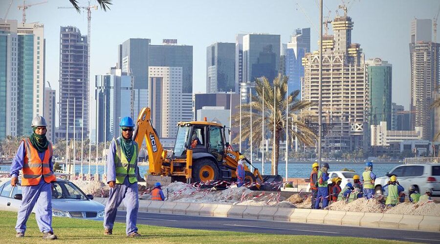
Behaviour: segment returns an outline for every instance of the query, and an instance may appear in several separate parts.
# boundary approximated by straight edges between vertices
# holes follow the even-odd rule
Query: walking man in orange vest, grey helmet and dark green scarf
[[[46,120],[37,116],[32,120],[32,135],[20,143],[11,165],[11,185],[16,186],[22,169],[22,203],[17,215],[16,237],[24,237],[26,222],[32,209],[43,239],[54,240],[52,229],[52,143],[46,138]],[[35,208],[34,208],[35,206]]]

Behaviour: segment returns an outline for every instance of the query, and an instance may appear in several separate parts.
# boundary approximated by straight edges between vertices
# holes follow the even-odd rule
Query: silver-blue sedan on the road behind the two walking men
[[[10,180],[0,184],[0,210],[18,212],[21,200],[22,187],[19,184],[12,186]],[[62,179],[52,183],[53,216],[102,221],[104,208],[74,183]]]

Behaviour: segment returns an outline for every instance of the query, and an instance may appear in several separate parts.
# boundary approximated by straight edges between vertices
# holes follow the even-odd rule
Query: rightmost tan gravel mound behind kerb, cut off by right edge
[[[385,211],[392,214],[440,216],[440,204],[433,201],[419,203],[399,203]]]

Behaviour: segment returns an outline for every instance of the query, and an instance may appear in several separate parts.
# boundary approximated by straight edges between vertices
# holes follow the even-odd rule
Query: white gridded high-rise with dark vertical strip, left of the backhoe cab
[[[182,67],[149,67],[148,103],[159,137],[176,137],[176,124],[182,121],[182,84]]]

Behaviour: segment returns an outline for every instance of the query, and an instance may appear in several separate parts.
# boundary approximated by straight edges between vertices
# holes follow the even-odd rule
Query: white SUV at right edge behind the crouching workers
[[[376,194],[383,194],[382,187],[388,183],[390,177],[395,175],[397,182],[409,194],[409,188],[414,185],[416,190],[423,194],[431,189],[433,195],[440,195],[440,163],[402,164],[393,168],[384,177],[379,177],[374,182]]]

